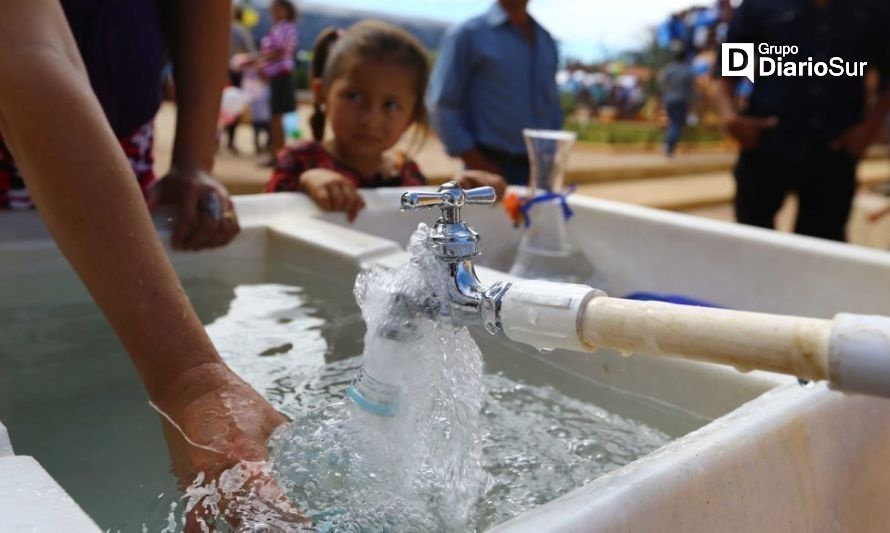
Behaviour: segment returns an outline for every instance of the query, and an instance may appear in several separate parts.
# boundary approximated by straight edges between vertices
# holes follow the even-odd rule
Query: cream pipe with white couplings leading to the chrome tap
[[[504,333],[538,348],[642,352],[828,380],[890,396],[890,318],[834,320],[610,298],[586,285],[514,283]]]

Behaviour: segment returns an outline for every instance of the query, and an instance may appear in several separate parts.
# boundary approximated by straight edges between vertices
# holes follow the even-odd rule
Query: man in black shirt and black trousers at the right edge
[[[785,196],[794,191],[796,233],[845,240],[857,162],[890,109],[888,10],[887,2],[874,0],[744,0],[736,9],[727,42],[797,47],[799,53],[783,58],[786,64],[832,57],[867,61],[884,78],[867,111],[864,76],[757,73],[748,108],[739,112],[734,86],[740,78],[719,77],[718,55],[717,106],[741,146],[735,167],[739,222],[773,228]]]

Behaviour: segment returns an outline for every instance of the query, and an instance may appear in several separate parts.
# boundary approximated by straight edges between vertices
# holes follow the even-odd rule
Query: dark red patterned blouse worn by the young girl
[[[300,191],[300,176],[313,168],[324,168],[342,174],[356,187],[418,187],[426,185],[426,177],[420,172],[417,163],[404,152],[396,152],[395,168],[389,176],[378,174],[371,177],[360,176],[317,142],[303,141],[288,146],[278,154],[272,179],[266,184],[266,192]]]

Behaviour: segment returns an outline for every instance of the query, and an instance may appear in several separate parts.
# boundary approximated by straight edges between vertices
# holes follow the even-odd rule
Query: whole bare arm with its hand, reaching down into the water
[[[225,366],[195,315],[59,2],[0,0],[0,50],[0,134],[43,220],[154,403],[221,452],[190,448],[179,473],[262,460],[284,418]]]

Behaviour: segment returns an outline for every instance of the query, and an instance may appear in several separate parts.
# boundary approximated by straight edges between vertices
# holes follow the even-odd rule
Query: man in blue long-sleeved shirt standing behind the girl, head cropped
[[[562,128],[556,42],[527,6],[499,0],[449,30],[427,93],[448,153],[519,185],[529,171],[522,130]]]

